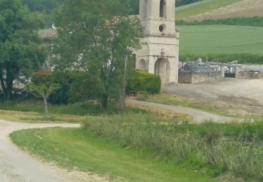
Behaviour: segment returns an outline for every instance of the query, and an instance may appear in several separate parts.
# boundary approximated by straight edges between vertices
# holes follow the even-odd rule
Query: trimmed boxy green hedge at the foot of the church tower
[[[141,70],[135,70],[128,76],[127,92],[148,92],[150,94],[157,94],[161,90],[160,76],[147,73]]]

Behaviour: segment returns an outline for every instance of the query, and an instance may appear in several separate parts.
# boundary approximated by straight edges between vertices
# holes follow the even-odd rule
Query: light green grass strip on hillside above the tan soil
[[[206,13],[241,0],[204,0],[175,8],[176,20]]]

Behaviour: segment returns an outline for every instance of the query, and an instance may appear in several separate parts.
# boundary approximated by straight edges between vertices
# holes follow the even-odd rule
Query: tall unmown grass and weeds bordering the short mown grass
[[[199,125],[206,130],[201,135],[198,130],[151,123],[151,117],[140,116],[127,116],[124,122],[117,116],[89,116],[83,128],[98,136],[119,141],[124,148],[145,148],[176,164],[190,163],[196,169],[206,169],[212,177],[231,172],[243,179],[262,180],[263,145],[257,137],[246,139],[239,134],[226,137],[224,131],[209,130],[207,125]],[[185,124],[183,127],[187,126]]]

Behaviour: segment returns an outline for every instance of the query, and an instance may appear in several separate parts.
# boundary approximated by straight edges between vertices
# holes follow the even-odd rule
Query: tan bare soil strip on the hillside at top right
[[[186,21],[263,16],[262,0],[243,0],[207,13],[183,18]]]

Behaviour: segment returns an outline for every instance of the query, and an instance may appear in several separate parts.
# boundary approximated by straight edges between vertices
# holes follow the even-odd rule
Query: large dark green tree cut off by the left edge
[[[30,76],[45,60],[37,34],[43,22],[20,0],[1,0],[0,7],[0,82],[4,99],[11,99],[13,81]]]

